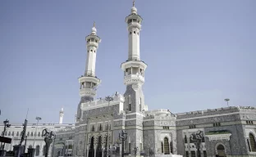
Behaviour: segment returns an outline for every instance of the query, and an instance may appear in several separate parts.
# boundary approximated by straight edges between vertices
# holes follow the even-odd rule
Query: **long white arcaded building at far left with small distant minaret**
[[[27,128],[25,135],[26,137],[26,142],[23,141],[22,145],[25,145],[25,148],[29,148],[29,146],[32,146],[35,149],[35,156],[44,156],[45,155],[45,141],[44,138],[42,137],[42,132],[43,129],[47,128],[50,131],[53,132],[58,132],[60,130],[70,130],[72,128],[75,128],[74,123],[62,123],[64,111],[63,108],[60,111],[60,117],[59,117],[59,122],[60,123],[27,123]],[[10,122],[11,123],[11,122]],[[3,132],[4,130],[4,125],[0,124],[0,132]],[[22,131],[23,131],[23,124],[22,123],[11,123],[11,127],[7,128],[7,131],[4,133],[4,137],[9,137],[11,138],[11,144],[5,144],[4,145],[4,150],[13,150],[13,146],[19,145],[21,143],[21,136],[22,136]],[[71,141],[66,141],[65,145],[60,146],[61,144],[57,144],[58,147],[63,146],[69,146],[68,144],[73,143]],[[52,156],[53,154],[53,145],[55,145],[55,141],[51,144],[49,147],[48,151],[48,156]],[[2,143],[3,147],[3,143]],[[25,149],[25,152],[27,152],[27,149]],[[62,154],[64,155],[63,151]],[[67,154],[67,152],[66,152]]]

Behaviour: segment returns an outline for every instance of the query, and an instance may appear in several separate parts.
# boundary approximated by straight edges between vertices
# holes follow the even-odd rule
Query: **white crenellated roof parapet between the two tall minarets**
[[[113,96],[113,101],[110,101],[109,105],[123,105],[125,101],[125,97],[122,96],[121,94],[117,94]],[[108,105],[108,101],[105,99],[97,99],[95,101],[89,101],[81,104],[81,110],[91,110],[99,107],[104,107]]]

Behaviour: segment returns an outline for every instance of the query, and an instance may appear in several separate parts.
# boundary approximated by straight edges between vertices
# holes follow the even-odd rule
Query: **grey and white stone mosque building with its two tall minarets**
[[[57,132],[54,156],[61,144],[73,140],[69,155],[100,157],[121,155],[120,132],[127,133],[126,155],[213,157],[256,155],[256,109],[226,107],[172,114],[170,110],[148,110],[143,84],[147,65],[141,60],[139,36],[143,19],[135,5],[126,16],[128,57],[121,63],[126,92],[94,100],[101,80],[95,73],[96,55],[101,39],[95,25],[86,37],[85,74],[79,78],[80,103],[75,129]],[[69,144],[68,144],[69,145]],[[72,153],[71,153],[72,152]]]

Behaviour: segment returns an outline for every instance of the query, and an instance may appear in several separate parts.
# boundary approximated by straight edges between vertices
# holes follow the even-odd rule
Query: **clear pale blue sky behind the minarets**
[[[121,62],[128,53],[125,18],[131,0],[1,1],[0,120],[74,123],[88,35],[102,38],[98,95],[125,92]],[[256,102],[255,0],[138,0],[149,110],[173,113]]]

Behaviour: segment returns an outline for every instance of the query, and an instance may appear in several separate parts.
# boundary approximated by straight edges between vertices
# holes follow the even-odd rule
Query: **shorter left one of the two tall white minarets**
[[[101,82],[95,75],[95,64],[96,64],[96,53],[98,49],[98,43],[101,42],[101,39],[97,36],[97,29],[92,28],[91,34],[86,38],[86,47],[87,47],[87,56],[86,56],[86,65],[85,65],[85,75],[79,78],[80,83],[80,96],[81,100],[77,109],[77,118],[80,119],[81,111],[80,104],[86,101],[93,101],[94,96],[96,95],[96,90],[98,84]]]

